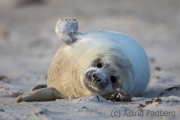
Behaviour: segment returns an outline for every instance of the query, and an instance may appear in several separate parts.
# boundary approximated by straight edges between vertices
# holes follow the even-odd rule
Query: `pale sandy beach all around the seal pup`
[[[9,0],[0,1],[0,120],[179,119],[180,1]],[[79,31],[119,31],[145,49],[151,78],[142,97],[111,102],[97,95],[80,99],[16,103],[18,95],[46,84],[62,42],[59,18],[76,18]],[[100,98],[100,96],[99,96]]]

